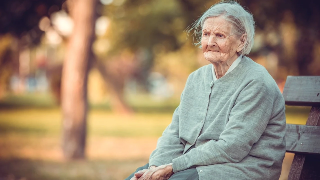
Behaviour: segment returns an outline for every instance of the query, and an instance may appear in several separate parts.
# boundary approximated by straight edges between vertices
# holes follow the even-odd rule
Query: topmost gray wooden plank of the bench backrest
[[[283,97],[287,105],[320,106],[320,76],[288,76]]]

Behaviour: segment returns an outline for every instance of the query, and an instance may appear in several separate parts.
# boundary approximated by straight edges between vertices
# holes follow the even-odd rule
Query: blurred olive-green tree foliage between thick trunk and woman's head
[[[128,0],[121,6],[106,6],[105,12],[112,20],[110,55],[129,49],[139,56],[135,78],[147,86],[155,51],[173,51],[181,45],[177,37],[185,25],[179,4],[175,0]]]

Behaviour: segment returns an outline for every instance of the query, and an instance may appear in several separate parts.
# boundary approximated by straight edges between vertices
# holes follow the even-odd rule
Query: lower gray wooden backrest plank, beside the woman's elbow
[[[320,127],[287,124],[286,151],[293,153],[320,153]]]

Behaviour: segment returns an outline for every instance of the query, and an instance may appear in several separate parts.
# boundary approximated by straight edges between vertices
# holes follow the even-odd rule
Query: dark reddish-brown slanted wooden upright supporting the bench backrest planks
[[[320,126],[320,107],[312,107],[306,125]],[[288,180],[319,180],[319,155],[296,153],[290,168]]]

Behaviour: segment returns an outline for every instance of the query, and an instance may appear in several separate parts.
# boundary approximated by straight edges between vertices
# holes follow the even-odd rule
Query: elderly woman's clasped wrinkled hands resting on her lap
[[[173,174],[172,163],[158,167],[151,166],[149,169],[143,169],[136,173],[131,180],[167,180]]]

